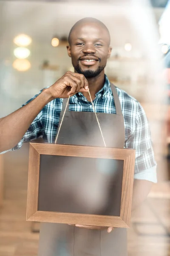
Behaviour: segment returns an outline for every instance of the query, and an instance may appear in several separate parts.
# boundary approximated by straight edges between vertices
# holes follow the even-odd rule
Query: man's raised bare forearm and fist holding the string
[[[38,113],[55,98],[68,98],[77,92],[87,92],[88,81],[82,74],[68,71],[51,87],[42,90],[23,108],[0,118],[0,152],[13,148],[23,138]]]

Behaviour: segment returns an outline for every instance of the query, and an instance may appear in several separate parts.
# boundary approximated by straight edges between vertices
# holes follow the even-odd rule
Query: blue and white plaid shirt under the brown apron
[[[154,160],[150,138],[150,128],[144,110],[139,102],[129,96],[125,91],[118,87],[116,87],[116,90],[125,122],[125,148],[136,149],[134,178],[156,182],[156,162]],[[35,97],[37,95],[28,102]],[[105,76],[104,86],[96,93],[94,107],[96,112],[116,113],[113,93],[107,76]],[[23,139],[11,150],[19,149],[23,142],[28,142],[39,137],[42,137],[45,142],[54,143],[61,109],[62,99],[54,99],[49,102],[34,119]],[[91,108],[91,103],[88,102],[82,93],[77,93],[70,98],[69,110],[94,111]]]

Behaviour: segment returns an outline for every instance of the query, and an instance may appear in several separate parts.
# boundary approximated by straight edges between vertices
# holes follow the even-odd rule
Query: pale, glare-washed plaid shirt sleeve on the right
[[[125,143],[126,148],[136,149],[134,178],[156,183],[156,161],[154,159],[150,128],[142,106],[138,105],[136,128]]]

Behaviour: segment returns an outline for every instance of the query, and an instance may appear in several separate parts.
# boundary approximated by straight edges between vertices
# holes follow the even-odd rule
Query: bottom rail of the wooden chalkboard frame
[[[65,224],[93,225],[101,227],[128,227],[119,216],[92,215],[65,212],[37,211],[28,221],[41,221]]]

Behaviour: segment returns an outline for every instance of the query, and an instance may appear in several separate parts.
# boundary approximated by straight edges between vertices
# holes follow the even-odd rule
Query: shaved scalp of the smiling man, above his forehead
[[[74,32],[74,30],[77,30],[78,28],[81,28],[83,25],[89,24],[91,26],[93,25],[97,25],[99,27],[101,27],[102,29],[105,30],[107,37],[108,37],[108,44],[110,45],[111,43],[111,37],[110,37],[110,33],[108,31],[108,28],[105,26],[104,23],[102,23],[102,21],[97,20],[96,18],[92,18],[92,17],[87,17],[87,18],[83,18],[79,21],[77,21],[74,26],[71,28],[70,33],[68,35],[68,43],[71,45],[71,37],[72,37],[72,33]]]

